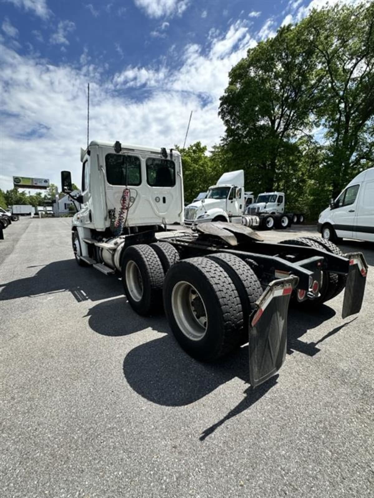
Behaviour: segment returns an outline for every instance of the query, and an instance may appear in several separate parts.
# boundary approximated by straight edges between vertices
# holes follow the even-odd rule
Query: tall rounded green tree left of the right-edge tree
[[[308,33],[284,26],[229,73],[219,107],[224,144],[261,189],[273,190],[280,166],[296,153],[295,138],[312,125],[323,77],[315,52]]]

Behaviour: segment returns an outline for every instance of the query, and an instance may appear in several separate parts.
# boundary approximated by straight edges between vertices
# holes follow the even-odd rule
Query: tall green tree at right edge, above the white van
[[[311,33],[324,68],[316,116],[326,129],[324,167],[337,195],[374,164],[374,3],[314,10],[297,29]]]

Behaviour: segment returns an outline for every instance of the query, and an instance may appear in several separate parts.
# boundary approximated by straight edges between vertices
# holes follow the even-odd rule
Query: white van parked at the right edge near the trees
[[[374,242],[374,168],[358,174],[322,211],[318,231],[332,242],[340,238]]]

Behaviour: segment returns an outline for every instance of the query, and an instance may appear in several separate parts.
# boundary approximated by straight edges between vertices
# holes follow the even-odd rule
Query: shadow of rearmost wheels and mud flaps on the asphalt
[[[102,304],[105,303],[100,303],[96,308]],[[334,315],[335,311],[326,305],[318,315],[293,309],[288,322],[288,353],[292,354],[295,350],[308,356],[318,353],[320,349],[317,344],[321,344],[350,322],[334,328],[315,343],[303,343],[300,337]],[[145,327],[149,325],[147,321]],[[159,332],[169,332],[167,321],[163,317],[154,318],[153,328]],[[129,385],[147,400],[164,406],[184,406],[201,399],[235,377],[248,383],[248,346],[241,347],[213,364],[200,363],[190,358],[169,332],[130,351],[123,362],[123,373]],[[224,422],[256,403],[277,384],[277,379],[278,374],[256,389],[248,386],[244,390],[244,398],[224,417],[204,429],[199,439],[204,440]]]

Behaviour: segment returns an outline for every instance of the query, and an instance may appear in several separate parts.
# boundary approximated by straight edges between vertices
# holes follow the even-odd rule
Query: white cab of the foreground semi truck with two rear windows
[[[81,149],[81,209],[73,226],[116,228],[183,223],[181,155],[170,149],[91,141]],[[66,190],[67,191],[67,190]]]

